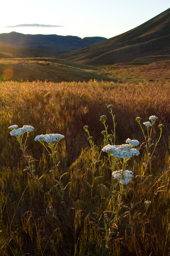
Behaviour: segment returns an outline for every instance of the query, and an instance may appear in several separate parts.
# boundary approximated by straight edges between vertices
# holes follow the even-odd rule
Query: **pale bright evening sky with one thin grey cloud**
[[[169,0],[3,0],[0,34],[15,31],[111,38],[168,8]]]

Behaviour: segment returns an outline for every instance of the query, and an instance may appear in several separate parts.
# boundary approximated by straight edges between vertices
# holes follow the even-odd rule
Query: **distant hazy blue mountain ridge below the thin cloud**
[[[78,36],[30,35],[17,32],[0,34],[0,43],[20,48],[41,48],[61,54],[87,47],[106,40],[105,37],[94,36],[81,39]]]

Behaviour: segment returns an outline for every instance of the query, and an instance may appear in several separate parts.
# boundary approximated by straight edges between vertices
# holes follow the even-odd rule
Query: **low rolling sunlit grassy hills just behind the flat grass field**
[[[131,63],[88,66],[55,58],[18,58],[0,60],[0,79],[13,81],[160,81],[170,79],[169,56],[138,58]]]

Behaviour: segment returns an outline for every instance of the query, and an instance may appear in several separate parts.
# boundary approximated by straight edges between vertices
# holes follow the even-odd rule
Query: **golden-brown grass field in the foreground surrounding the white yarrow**
[[[15,65],[4,63],[5,68]],[[34,65],[32,60],[27,63],[33,71],[37,67],[31,66]],[[58,64],[47,65],[42,61],[36,65],[46,70]],[[168,65],[169,62],[165,62],[165,71]],[[105,70],[111,72],[113,67],[105,67]],[[145,65],[137,67],[141,73]],[[150,67],[148,77],[143,82],[132,79],[114,83],[96,79],[19,83],[4,81],[2,77],[0,255],[166,256],[170,253],[170,83],[166,79],[156,81],[152,70],[155,66],[147,67]],[[93,67],[90,72],[98,68],[101,70]],[[119,73],[120,79],[127,69],[122,75]],[[147,81],[152,78],[154,82]],[[120,160],[116,160],[116,166],[106,152],[101,152],[104,143],[101,132],[105,127],[100,116],[107,116],[108,133],[114,130],[109,104],[113,105],[117,123],[115,144],[125,144],[126,139],[131,138],[142,145],[140,155],[128,160],[127,168],[134,174],[130,185],[121,185],[113,179],[112,171],[121,168]],[[143,125],[152,115],[158,120],[153,126],[151,150],[159,139],[158,125],[164,124],[164,128],[155,157],[145,170],[148,156],[136,117],[142,118]],[[17,138],[11,136],[8,129],[13,124],[34,127],[25,152],[33,161],[31,168],[35,169],[36,179],[45,175],[40,180],[44,192],[32,172],[24,171],[26,158]],[[89,126],[94,142],[87,140],[85,125]],[[143,129],[147,134],[144,125]],[[56,164],[60,161],[57,167],[41,143],[34,141],[36,135],[46,133],[64,135],[55,153]],[[61,184],[56,185],[59,173]],[[147,200],[151,204],[146,205]]]

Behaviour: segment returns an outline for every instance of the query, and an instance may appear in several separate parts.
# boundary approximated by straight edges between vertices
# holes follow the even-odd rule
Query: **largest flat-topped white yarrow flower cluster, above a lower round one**
[[[116,156],[119,158],[130,158],[132,156],[138,156],[140,152],[133,148],[129,144],[122,144],[122,145],[106,145],[104,148],[102,148],[104,152],[111,152],[111,156]]]

